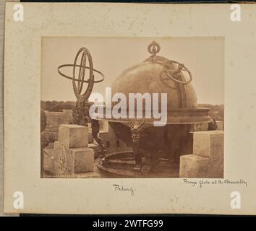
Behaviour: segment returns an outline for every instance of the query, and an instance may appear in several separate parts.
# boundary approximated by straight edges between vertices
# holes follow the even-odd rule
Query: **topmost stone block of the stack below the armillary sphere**
[[[75,124],[61,124],[58,141],[67,150],[74,147],[88,147],[88,128]]]

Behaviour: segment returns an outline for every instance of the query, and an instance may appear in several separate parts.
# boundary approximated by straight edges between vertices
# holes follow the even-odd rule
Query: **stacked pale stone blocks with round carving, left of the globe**
[[[54,175],[59,178],[95,178],[94,150],[88,147],[88,128],[62,124],[59,139],[54,142]]]

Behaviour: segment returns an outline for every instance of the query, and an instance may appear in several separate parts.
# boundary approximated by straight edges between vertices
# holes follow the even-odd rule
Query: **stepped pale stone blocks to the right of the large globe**
[[[223,178],[223,131],[193,133],[193,154],[180,159],[181,178]]]

